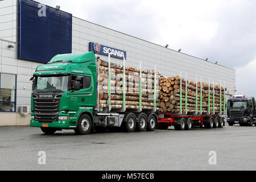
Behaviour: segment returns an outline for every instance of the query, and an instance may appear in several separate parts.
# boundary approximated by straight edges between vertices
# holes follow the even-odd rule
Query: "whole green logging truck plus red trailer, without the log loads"
[[[110,65],[109,55],[108,70]],[[154,131],[158,125],[160,129],[174,125],[176,130],[190,130],[195,125],[209,128],[224,126],[225,115],[222,114],[225,113],[225,97],[224,113],[220,109],[220,112],[215,114],[213,106],[213,110],[210,111],[209,107],[206,114],[199,110],[195,115],[187,115],[187,104],[185,110],[180,107],[179,115],[159,113],[156,103],[158,94],[156,69],[154,69],[155,81],[152,93],[153,105],[143,106],[140,66],[138,107],[134,109],[127,106],[126,89],[124,89],[126,88],[125,59],[121,76],[123,77],[122,107],[112,108],[112,90],[108,89],[107,107],[101,108],[99,67],[99,57],[96,58],[94,52],[86,52],[56,55],[48,64],[36,68],[30,79],[33,82],[30,126],[40,127],[46,134],[53,134],[63,129],[73,129],[77,134],[89,134],[97,128],[121,126],[127,132],[133,132],[135,129]],[[108,74],[111,78],[112,73]],[[111,81],[108,80],[108,88],[111,87],[110,83]]]

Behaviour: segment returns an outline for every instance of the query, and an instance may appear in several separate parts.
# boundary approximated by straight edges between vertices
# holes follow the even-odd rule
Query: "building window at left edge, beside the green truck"
[[[0,112],[16,111],[16,75],[0,73]]]

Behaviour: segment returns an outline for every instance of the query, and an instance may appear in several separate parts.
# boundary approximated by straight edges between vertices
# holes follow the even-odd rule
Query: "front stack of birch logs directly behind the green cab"
[[[142,69],[141,96],[142,109],[154,109],[154,70]],[[139,109],[139,68],[125,66],[126,109]],[[99,107],[108,108],[108,61],[99,60]],[[156,74],[156,98],[159,96],[160,73]],[[111,109],[123,108],[123,65],[110,63],[110,107]],[[156,99],[156,109],[159,110],[160,100]]]

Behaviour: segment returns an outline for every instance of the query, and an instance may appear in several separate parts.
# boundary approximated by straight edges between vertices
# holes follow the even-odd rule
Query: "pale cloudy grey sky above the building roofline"
[[[68,1],[73,16],[236,69],[237,93],[256,97],[256,1]]]

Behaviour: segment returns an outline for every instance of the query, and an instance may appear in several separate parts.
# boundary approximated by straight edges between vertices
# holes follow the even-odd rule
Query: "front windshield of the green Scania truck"
[[[33,84],[34,92],[66,92],[68,76],[36,77]]]

